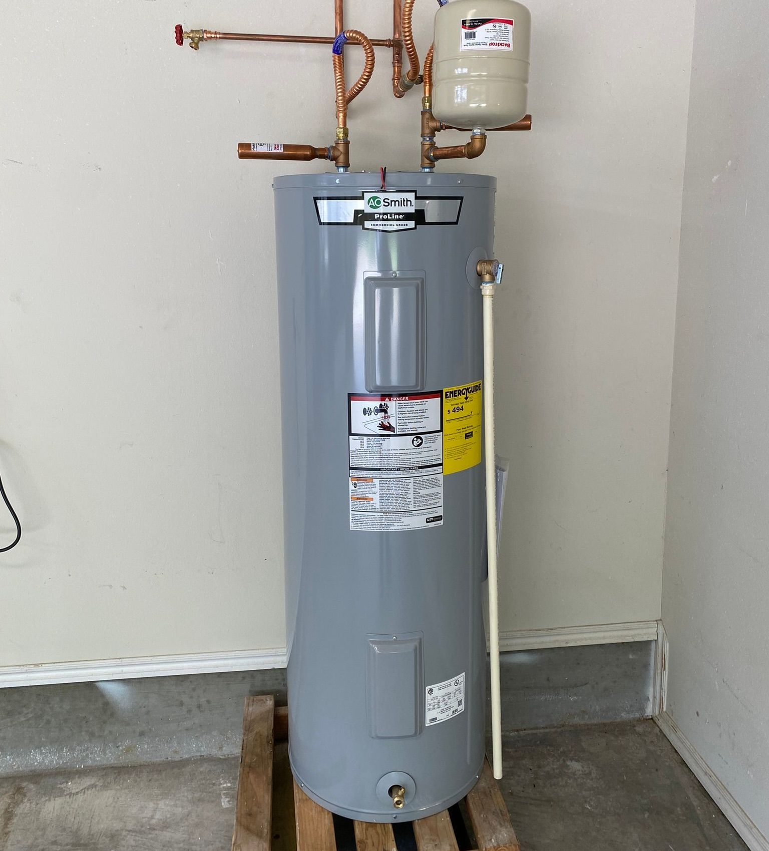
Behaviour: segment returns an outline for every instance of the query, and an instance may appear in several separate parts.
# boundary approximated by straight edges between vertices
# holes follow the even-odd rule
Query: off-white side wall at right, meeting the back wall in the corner
[[[766,3],[698,0],[663,620],[668,711],[769,837]]]

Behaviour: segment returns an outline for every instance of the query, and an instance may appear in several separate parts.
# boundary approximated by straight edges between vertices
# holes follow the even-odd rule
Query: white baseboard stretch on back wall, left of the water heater
[[[221,671],[259,671],[285,666],[285,648],[179,656],[138,656],[133,659],[57,662],[48,665],[15,665],[0,668],[0,688],[53,685],[54,683],[100,683],[103,680],[214,674]]]

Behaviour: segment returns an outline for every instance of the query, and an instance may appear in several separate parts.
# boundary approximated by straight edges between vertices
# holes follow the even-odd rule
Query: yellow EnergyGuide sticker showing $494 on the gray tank
[[[481,463],[483,382],[443,390],[443,474]]]

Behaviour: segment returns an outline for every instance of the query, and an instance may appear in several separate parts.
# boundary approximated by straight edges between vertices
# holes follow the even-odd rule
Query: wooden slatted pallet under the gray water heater
[[[307,797],[293,780],[290,781],[293,802],[285,793],[284,806],[276,806],[279,802],[273,800],[274,789],[277,794],[277,790],[288,788],[287,777],[280,780],[273,773],[276,743],[286,740],[287,708],[276,706],[272,695],[247,698],[232,851],[277,851],[278,847],[296,848],[297,851],[337,851],[332,814]],[[488,762],[484,762],[481,778],[464,798],[464,805],[475,835],[474,848],[520,851],[510,815]],[[294,825],[286,825],[284,811],[291,809]],[[283,825],[276,831],[279,822]],[[366,821],[356,821],[353,825],[357,851],[397,851],[392,825]],[[447,810],[413,821],[411,825],[419,851],[459,851]]]

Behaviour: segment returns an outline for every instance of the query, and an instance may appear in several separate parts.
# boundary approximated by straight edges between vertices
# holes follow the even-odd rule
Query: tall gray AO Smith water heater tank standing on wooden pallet
[[[485,751],[476,263],[496,180],[274,186],[291,767],[334,813],[424,818]]]

